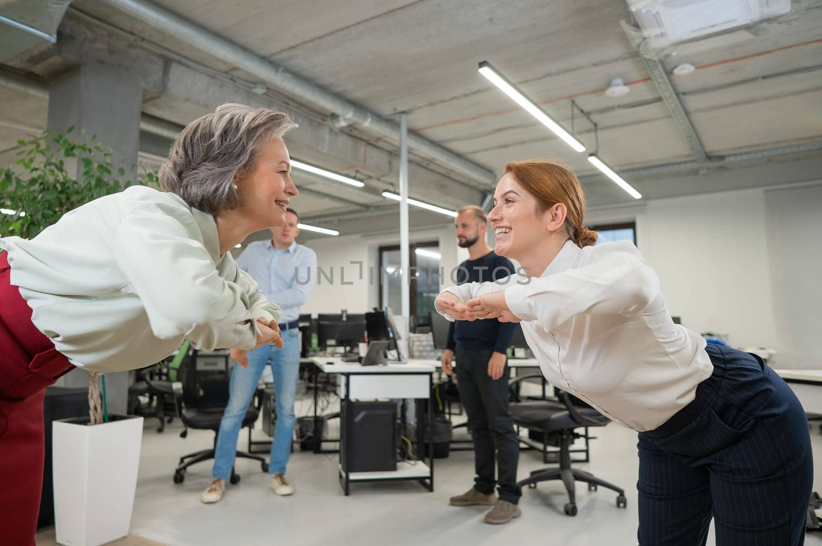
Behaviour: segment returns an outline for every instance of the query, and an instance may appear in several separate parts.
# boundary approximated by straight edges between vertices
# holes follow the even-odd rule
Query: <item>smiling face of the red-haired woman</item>
[[[538,213],[537,201],[508,173],[496,184],[488,220],[494,230],[494,252],[522,262],[549,236],[551,209]]]

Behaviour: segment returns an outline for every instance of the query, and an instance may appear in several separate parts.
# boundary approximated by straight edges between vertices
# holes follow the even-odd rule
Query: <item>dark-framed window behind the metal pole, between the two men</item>
[[[381,246],[380,307],[390,307],[402,313],[402,283],[404,275],[399,264],[399,245]],[[436,241],[409,245],[411,279],[410,314],[426,316],[434,310],[434,300],[440,293],[440,245]]]

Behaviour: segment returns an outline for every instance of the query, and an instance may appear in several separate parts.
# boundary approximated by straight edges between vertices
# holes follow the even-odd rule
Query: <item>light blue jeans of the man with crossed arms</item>
[[[294,397],[297,395],[297,378],[300,371],[300,335],[297,328],[283,332],[283,348],[264,345],[248,353],[248,367],[235,365],[229,385],[229,404],[219,422],[214,467],[211,475],[229,479],[237,454],[237,438],[249,404],[260,382],[262,370],[271,362],[274,389],[277,400],[277,424],[271,443],[269,471],[285,474],[285,466],[291,455],[291,438],[294,432]]]

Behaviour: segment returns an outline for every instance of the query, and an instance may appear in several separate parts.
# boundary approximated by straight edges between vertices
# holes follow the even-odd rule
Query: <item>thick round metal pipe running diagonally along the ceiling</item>
[[[334,124],[356,124],[378,135],[386,136],[399,142],[399,126],[388,122],[376,114],[361,108],[348,100],[330,93],[310,81],[291,74],[275,64],[259,57],[245,48],[232,44],[229,40],[212,34],[193,25],[191,22],[142,0],[99,0],[137,21],[142,21],[155,30],[178,39],[193,48],[199,49],[233,67],[260,78],[262,82],[281,93],[289,94],[303,103],[331,112],[336,117]],[[490,188],[496,184],[496,175],[484,167],[465,159],[448,149],[436,145],[419,135],[409,135],[409,148],[417,154],[431,158],[454,172]]]

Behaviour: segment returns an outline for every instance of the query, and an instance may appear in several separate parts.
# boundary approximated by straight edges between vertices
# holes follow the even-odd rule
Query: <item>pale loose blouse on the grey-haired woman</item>
[[[219,254],[214,218],[149,187],[91,201],[0,248],[31,322],[86,369],[151,365],[184,338],[206,351],[252,349],[254,319],[279,320],[279,307]]]

